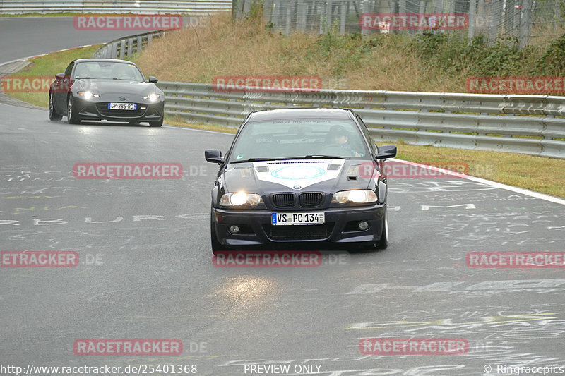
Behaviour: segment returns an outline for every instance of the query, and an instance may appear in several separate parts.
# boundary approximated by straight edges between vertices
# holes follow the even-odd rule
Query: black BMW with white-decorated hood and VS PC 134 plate
[[[256,111],[239,127],[212,190],[212,251],[333,243],[386,248],[384,159],[359,115],[348,109]],[[310,245],[313,245],[310,244]],[[272,247],[271,247],[272,248]]]

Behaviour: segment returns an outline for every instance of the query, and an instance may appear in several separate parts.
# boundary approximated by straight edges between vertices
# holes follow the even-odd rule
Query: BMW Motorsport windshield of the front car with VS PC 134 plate
[[[287,119],[247,123],[230,153],[230,162],[258,159],[355,158],[369,154],[354,121]]]

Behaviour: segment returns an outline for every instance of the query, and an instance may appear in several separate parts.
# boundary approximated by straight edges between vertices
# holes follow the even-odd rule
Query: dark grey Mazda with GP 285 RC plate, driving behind
[[[49,87],[49,119],[67,117],[71,124],[83,120],[147,121],[163,124],[165,95],[147,80],[131,61],[118,59],[77,59]]]

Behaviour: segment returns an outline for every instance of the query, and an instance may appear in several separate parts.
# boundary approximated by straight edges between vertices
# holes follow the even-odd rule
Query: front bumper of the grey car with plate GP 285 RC
[[[121,102],[114,100],[110,102]],[[162,119],[165,109],[165,101],[148,102],[132,101],[136,103],[136,110],[110,110],[108,101],[92,101],[82,97],[74,97],[74,109],[81,120],[107,120],[107,121],[159,121]]]

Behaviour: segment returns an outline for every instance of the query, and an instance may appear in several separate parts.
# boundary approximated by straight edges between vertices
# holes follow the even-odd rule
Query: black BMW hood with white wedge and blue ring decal
[[[374,186],[376,164],[358,159],[307,159],[228,164],[221,174],[224,192],[244,190],[270,195],[276,192],[324,192]],[[369,169],[367,169],[369,167]]]

